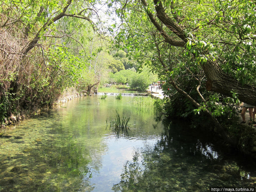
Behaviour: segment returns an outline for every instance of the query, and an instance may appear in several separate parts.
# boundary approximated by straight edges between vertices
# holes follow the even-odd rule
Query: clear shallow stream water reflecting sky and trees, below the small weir
[[[67,102],[2,130],[0,191],[209,191],[256,186],[255,163],[137,111],[125,96]],[[131,117],[129,137],[106,119]],[[241,157],[241,158],[240,158]]]

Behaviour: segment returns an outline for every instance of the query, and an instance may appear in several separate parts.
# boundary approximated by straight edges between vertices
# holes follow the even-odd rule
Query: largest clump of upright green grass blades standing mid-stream
[[[120,119],[119,113],[116,111],[116,119],[110,118],[110,128],[112,129],[113,133],[115,133],[115,137],[119,138],[119,134],[122,133],[123,138],[125,138],[125,135],[129,137],[128,130],[130,130],[129,118],[123,117],[123,119]],[[108,119],[106,119],[106,129],[108,127]]]

